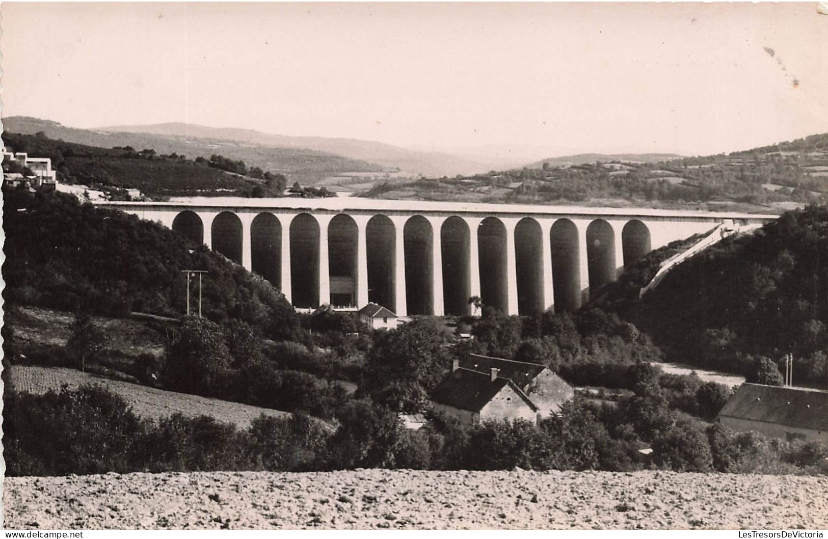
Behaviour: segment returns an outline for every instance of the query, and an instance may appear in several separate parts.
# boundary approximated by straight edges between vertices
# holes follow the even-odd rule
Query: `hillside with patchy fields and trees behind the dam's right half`
[[[729,155],[554,157],[474,176],[389,181],[363,196],[781,213],[828,201],[828,135]]]

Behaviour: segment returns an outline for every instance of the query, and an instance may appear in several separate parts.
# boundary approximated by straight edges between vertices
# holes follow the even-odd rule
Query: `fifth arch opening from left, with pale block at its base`
[[[357,302],[357,238],[359,229],[350,215],[335,215],[328,224],[330,303],[355,306]]]

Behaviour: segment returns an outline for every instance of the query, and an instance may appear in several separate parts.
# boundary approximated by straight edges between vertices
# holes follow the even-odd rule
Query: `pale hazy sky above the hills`
[[[2,115],[402,146],[730,152],[828,132],[816,2],[2,2]]]

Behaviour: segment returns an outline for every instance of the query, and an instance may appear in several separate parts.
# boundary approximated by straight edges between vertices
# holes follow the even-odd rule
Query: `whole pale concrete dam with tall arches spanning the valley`
[[[652,249],[770,214],[420,200],[106,202],[257,272],[296,307],[464,315],[469,298],[510,315],[575,310]]]

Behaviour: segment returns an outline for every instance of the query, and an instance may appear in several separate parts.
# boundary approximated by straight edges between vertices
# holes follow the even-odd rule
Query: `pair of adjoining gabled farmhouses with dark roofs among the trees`
[[[469,354],[431,392],[436,410],[462,425],[487,419],[537,421],[574,396],[545,365]]]

